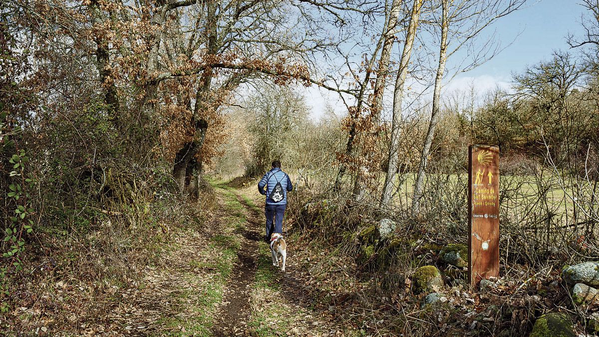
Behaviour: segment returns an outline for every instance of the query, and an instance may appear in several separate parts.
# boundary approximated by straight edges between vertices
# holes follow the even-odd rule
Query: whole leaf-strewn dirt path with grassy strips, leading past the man
[[[126,290],[110,320],[135,336],[349,336],[316,300],[299,243],[288,238],[287,272],[262,242],[264,215],[249,191],[213,183],[216,207],[177,233]],[[116,292],[121,290],[115,288]],[[101,329],[93,329],[95,335]]]

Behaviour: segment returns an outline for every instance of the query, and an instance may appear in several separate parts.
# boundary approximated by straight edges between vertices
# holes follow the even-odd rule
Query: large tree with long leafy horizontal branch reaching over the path
[[[368,5],[368,1],[280,0],[186,1],[171,5],[169,8],[177,8],[178,22],[164,35],[158,57],[168,58],[168,49],[173,47],[181,52],[171,53],[169,61],[175,67],[159,71],[150,83],[177,77],[196,79],[195,94],[181,102],[192,112],[192,119],[184,127],[193,133],[174,161],[173,176],[181,190],[189,189],[190,182],[196,184],[202,170],[202,147],[211,125],[207,112],[218,110],[225,103],[223,97],[241,83],[271,76],[278,83],[299,79],[338,91],[310,79],[308,67],[313,66],[313,55],[333,50],[338,44],[322,34],[325,28],[331,23],[347,25],[348,11],[366,15],[362,7]],[[323,14],[318,14],[320,10]],[[289,22],[290,17],[294,22]],[[183,62],[179,61],[181,53],[187,56]]]

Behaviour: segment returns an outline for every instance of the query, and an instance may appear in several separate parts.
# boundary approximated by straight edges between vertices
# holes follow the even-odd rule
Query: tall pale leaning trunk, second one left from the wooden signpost
[[[406,34],[406,44],[404,44],[403,52],[401,53],[400,68],[395,79],[394,98],[393,98],[393,118],[391,121],[391,143],[389,144],[389,156],[387,174],[385,177],[385,185],[383,186],[383,194],[380,198],[380,206],[387,207],[391,202],[395,185],[395,173],[398,169],[398,152],[400,148],[400,128],[403,116],[401,115],[401,103],[403,101],[404,85],[408,73],[408,65],[410,64],[410,56],[412,56],[412,47],[414,38],[416,37],[416,29],[418,28],[418,20],[420,10],[422,9],[423,0],[415,0],[412,7],[412,15],[410,16],[410,24]]]

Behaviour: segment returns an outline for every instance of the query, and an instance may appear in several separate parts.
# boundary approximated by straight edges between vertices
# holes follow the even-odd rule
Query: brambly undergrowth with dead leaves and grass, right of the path
[[[434,219],[382,213],[351,197],[331,198],[309,189],[294,195],[289,209],[292,233],[307,242],[304,247],[314,257],[305,266],[337,295],[327,299],[336,314],[369,334],[523,336],[540,315],[552,311],[565,312],[579,333],[592,335],[595,329],[589,318],[597,306],[576,302],[561,274],[568,264],[596,257],[594,248],[539,249],[531,252],[534,260],[517,249],[502,249],[500,277],[470,287],[465,268],[440,258],[447,247],[464,247],[465,237],[447,236]],[[389,217],[397,227],[382,236],[377,223]],[[502,247],[512,236],[509,228],[506,232]],[[568,250],[573,253],[565,258]],[[423,266],[440,271],[440,284],[428,291],[417,284]],[[427,304],[430,293],[440,300]]]

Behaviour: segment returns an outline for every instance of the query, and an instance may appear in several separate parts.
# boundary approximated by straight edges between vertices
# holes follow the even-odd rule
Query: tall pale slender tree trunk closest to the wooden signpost
[[[441,96],[441,88],[443,88],[443,73],[445,71],[445,64],[447,62],[447,30],[449,29],[449,24],[447,23],[447,7],[447,0],[443,0],[443,19],[441,19],[441,46],[439,49],[439,67],[437,68],[437,76],[435,77],[435,89],[432,94],[431,121],[428,125],[428,131],[426,131],[424,147],[422,148],[422,156],[420,157],[418,174],[416,175],[416,183],[414,185],[414,196],[412,199],[412,210],[416,213],[420,211],[420,198],[422,198],[422,189],[424,185],[426,164],[428,162],[428,155],[431,152],[432,137],[435,134],[435,128],[437,127],[439,117],[439,101]]]

